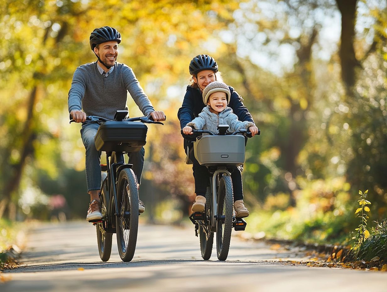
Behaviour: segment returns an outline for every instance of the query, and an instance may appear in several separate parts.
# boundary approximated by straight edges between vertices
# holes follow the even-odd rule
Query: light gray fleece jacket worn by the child
[[[217,126],[221,124],[229,125],[229,131],[235,132],[241,129],[248,129],[251,126],[255,126],[254,123],[249,121],[238,121],[238,116],[233,113],[231,107],[226,107],[224,111],[219,114],[210,112],[210,107],[207,105],[198,117],[192,122],[189,122],[187,126],[195,128],[196,130],[209,130],[214,133],[219,133]]]

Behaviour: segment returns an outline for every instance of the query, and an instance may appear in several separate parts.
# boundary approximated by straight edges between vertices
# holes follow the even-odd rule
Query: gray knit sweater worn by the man
[[[115,63],[113,71],[104,77],[97,62],[79,66],[68,92],[68,112],[83,111],[86,116],[113,119],[117,110],[128,110],[127,92],[144,115],[154,111],[132,68]]]

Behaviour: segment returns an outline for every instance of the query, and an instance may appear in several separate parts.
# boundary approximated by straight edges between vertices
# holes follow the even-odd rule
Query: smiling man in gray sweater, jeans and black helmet
[[[152,116],[154,121],[164,121],[163,111],[155,111],[144,90],[137,81],[132,69],[116,62],[121,35],[109,26],[96,28],[90,35],[90,47],[97,61],[78,67],[68,92],[68,111],[77,123],[86,121],[86,116],[100,116],[114,119],[117,110],[127,110],[127,92],[130,93],[142,113]],[[86,219],[101,219],[101,153],[96,150],[94,137],[98,124],[84,123],[80,130],[86,148],[87,192],[90,205]],[[128,153],[129,163],[140,184],[144,166],[144,148],[139,152]],[[139,201],[139,212],[144,212],[144,204]]]

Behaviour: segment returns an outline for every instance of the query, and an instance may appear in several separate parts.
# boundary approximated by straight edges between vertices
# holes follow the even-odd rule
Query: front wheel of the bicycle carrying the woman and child
[[[229,176],[222,176],[217,194],[216,253],[219,261],[228,256],[233,228],[233,185]]]

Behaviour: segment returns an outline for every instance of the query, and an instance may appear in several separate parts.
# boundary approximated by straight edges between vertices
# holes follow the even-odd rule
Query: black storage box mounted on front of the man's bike
[[[139,122],[107,121],[94,138],[98,151],[137,152],[146,143],[148,127]]]

